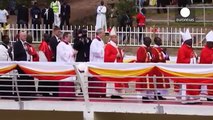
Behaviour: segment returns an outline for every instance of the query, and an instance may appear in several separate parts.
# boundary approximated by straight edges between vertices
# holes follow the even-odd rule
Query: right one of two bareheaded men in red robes
[[[166,63],[166,55],[163,51],[163,48],[161,48],[162,39],[159,37],[155,37],[154,42],[155,45],[152,47],[152,62]],[[156,75],[157,77],[163,77],[163,74],[159,71],[154,71],[153,75]],[[169,80],[165,78],[156,78],[156,82],[158,83],[156,87],[162,90],[156,91],[158,95],[155,96],[155,99],[166,100],[166,98],[162,97],[162,95],[168,93],[167,88],[170,88]]]

